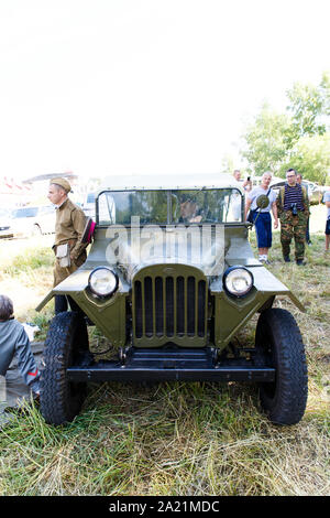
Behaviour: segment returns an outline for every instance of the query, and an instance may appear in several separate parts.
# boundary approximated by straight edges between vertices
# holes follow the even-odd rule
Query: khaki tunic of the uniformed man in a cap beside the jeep
[[[67,242],[70,248],[70,266],[61,267],[59,259],[55,259],[53,287],[64,281],[86,261],[87,244],[81,242],[85,225],[86,216],[84,211],[69,198],[56,209],[55,242],[53,249],[56,253],[57,246]]]

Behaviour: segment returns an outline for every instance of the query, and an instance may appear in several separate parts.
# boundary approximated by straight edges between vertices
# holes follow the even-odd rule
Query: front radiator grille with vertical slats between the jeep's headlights
[[[190,274],[153,276],[133,282],[133,325],[138,339],[174,341],[207,336],[207,282]],[[157,342],[155,342],[155,345]]]

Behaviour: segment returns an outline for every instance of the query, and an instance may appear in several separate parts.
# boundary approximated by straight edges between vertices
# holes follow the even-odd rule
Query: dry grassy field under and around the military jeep
[[[316,208],[322,223],[323,207]],[[271,424],[256,387],[243,384],[94,385],[66,427],[45,424],[28,407],[1,430],[0,494],[329,495],[330,257],[315,222],[305,267],[283,263],[278,233],[270,266],[307,310],[276,301],[292,311],[306,345],[309,397],[300,423]],[[255,247],[254,233],[251,241]],[[0,293],[13,299],[19,320],[38,323],[41,339],[53,309],[37,315],[33,307],[52,284],[51,244],[0,242]],[[252,343],[254,326],[238,338]]]

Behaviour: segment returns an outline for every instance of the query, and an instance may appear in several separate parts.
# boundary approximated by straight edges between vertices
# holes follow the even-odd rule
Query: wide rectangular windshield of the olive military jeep
[[[242,222],[242,195],[235,188],[116,191],[98,198],[100,225],[199,224]]]

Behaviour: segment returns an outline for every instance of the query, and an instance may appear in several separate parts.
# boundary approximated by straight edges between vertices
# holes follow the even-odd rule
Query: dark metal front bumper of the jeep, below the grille
[[[81,361],[67,369],[70,381],[251,381],[275,380],[275,369],[253,360],[218,361],[217,349],[205,347],[147,349],[130,347],[122,361]]]

